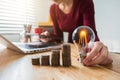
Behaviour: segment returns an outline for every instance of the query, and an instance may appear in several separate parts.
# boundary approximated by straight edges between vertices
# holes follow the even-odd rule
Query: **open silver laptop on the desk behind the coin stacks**
[[[32,43],[13,43],[7,40],[4,36],[0,35],[0,44],[3,44],[9,49],[14,51],[29,54],[29,53],[40,53],[44,51],[50,51],[53,49],[61,49],[61,45],[56,42],[32,42]]]

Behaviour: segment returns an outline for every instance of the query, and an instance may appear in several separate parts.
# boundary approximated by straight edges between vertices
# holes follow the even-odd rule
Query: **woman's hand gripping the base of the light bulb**
[[[113,60],[109,55],[108,48],[102,42],[97,41],[93,44],[91,51],[87,53],[83,62],[87,66],[92,66],[111,64]]]

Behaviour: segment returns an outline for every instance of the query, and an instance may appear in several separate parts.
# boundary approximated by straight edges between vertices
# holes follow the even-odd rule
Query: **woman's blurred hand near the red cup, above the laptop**
[[[40,34],[40,36],[43,36],[43,37],[40,37],[40,41],[41,42],[49,42],[49,41],[51,41],[52,40],[52,38],[50,37],[51,36],[51,34],[50,34],[50,32],[49,31],[45,31],[45,32],[42,32],[41,34]],[[45,36],[45,37],[44,37]]]

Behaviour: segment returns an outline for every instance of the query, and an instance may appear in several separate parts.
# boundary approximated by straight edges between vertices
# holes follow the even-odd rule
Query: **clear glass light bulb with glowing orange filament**
[[[95,40],[95,33],[89,26],[79,26],[73,31],[72,40],[83,62]]]

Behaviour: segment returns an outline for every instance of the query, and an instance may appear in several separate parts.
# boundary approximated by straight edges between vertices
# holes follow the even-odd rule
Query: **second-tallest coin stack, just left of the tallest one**
[[[52,50],[51,65],[60,66],[60,50]]]

